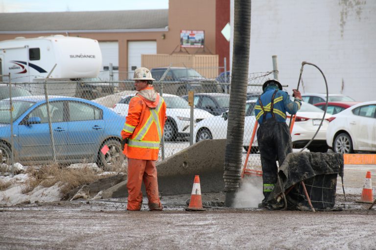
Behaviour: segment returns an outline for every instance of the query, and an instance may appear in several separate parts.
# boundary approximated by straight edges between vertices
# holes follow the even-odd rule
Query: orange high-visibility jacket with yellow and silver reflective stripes
[[[121,131],[122,138],[128,138],[124,154],[132,159],[158,160],[166,119],[166,104],[154,88],[148,85],[139,91],[129,103]]]

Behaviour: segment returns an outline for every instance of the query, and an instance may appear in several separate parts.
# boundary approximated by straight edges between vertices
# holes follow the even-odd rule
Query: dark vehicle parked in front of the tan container
[[[153,78],[156,80],[153,85],[158,92],[162,88],[162,83],[158,81],[166,70],[167,67],[150,69]],[[193,90],[195,93],[223,92],[222,87],[215,79],[205,78],[192,68],[170,67],[163,82],[163,93],[173,95],[187,95],[190,90]]]

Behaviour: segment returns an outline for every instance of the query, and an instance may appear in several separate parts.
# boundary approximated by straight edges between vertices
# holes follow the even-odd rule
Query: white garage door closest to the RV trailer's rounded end
[[[102,80],[110,79],[109,65],[112,63],[113,80],[118,81],[119,76],[119,46],[118,42],[99,42],[100,51],[102,52],[102,66],[98,77]]]

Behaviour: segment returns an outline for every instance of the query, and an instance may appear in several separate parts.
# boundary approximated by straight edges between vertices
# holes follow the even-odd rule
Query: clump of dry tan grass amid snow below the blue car
[[[60,168],[57,165],[43,166],[39,169],[29,167],[26,170],[30,178],[27,180],[22,192],[28,193],[35,187],[52,187],[57,184],[63,194],[68,193],[75,187],[92,183],[105,176],[97,175],[98,172],[90,167]]]

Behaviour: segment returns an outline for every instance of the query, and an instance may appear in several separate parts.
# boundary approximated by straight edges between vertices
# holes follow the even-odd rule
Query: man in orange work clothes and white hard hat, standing
[[[158,193],[159,145],[163,136],[166,104],[154,90],[150,70],[137,68],[133,80],[138,91],[129,103],[128,116],[121,131],[123,153],[128,157],[128,210],[141,210],[142,181],[150,210],[162,210]]]

